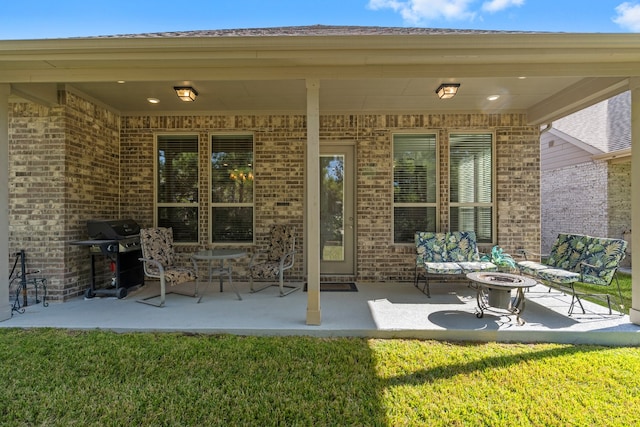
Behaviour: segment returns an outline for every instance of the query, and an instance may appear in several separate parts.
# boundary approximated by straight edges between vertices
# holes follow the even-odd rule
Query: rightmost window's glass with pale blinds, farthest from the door
[[[493,134],[449,135],[450,229],[493,243]]]

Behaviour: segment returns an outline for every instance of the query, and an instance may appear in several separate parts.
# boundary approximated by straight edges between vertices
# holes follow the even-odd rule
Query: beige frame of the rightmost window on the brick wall
[[[453,167],[453,162],[451,161],[451,136],[452,135],[490,135],[491,136],[491,201],[490,202],[452,202],[452,191],[451,191],[451,168]],[[491,209],[491,241],[480,241],[478,239],[478,244],[481,245],[496,245],[497,244],[497,161],[496,161],[496,133],[491,130],[450,130],[447,132],[447,142],[448,142],[448,162],[449,162],[449,170],[448,173],[448,182],[449,182],[449,203],[448,203],[448,216],[449,216],[449,228],[451,229],[451,218],[452,218],[452,208],[482,208],[488,207]],[[453,231],[467,231],[467,230],[453,230]]]

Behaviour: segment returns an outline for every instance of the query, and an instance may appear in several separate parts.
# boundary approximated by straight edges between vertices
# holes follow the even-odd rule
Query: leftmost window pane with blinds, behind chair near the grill
[[[198,135],[156,137],[156,224],[177,243],[198,242]]]

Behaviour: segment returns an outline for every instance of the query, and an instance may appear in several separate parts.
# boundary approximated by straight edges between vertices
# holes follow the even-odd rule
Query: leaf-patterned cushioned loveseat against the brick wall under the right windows
[[[431,296],[429,280],[432,278],[440,281],[465,280],[468,273],[498,269],[497,265],[480,260],[476,234],[473,231],[419,231],[415,233],[415,244],[414,284],[419,287],[420,280],[424,280],[422,291],[428,297]]]

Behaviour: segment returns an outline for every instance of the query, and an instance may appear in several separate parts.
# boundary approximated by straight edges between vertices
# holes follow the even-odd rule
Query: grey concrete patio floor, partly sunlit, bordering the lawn
[[[247,283],[236,285],[241,301],[228,285],[221,293],[214,283],[202,289],[200,303],[169,294],[166,306],[156,308],[136,301],[158,292],[157,282],[148,282],[121,300],[79,297],[48,307],[29,305],[0,327],[640,345],[640,326],[627,315],[609,315],[606,308],[585,303],[586,314],[576,310],[569,317],[570,298],[542,285],[526,294],[522,326],[498,313],[476,317],[476,291],[464,283],[434,284],[431,298],[412,283],[358,283],[358,292],[322,292],[319,326],[306,324],[302,290],[279,297],[277,287],[252,294]]]

